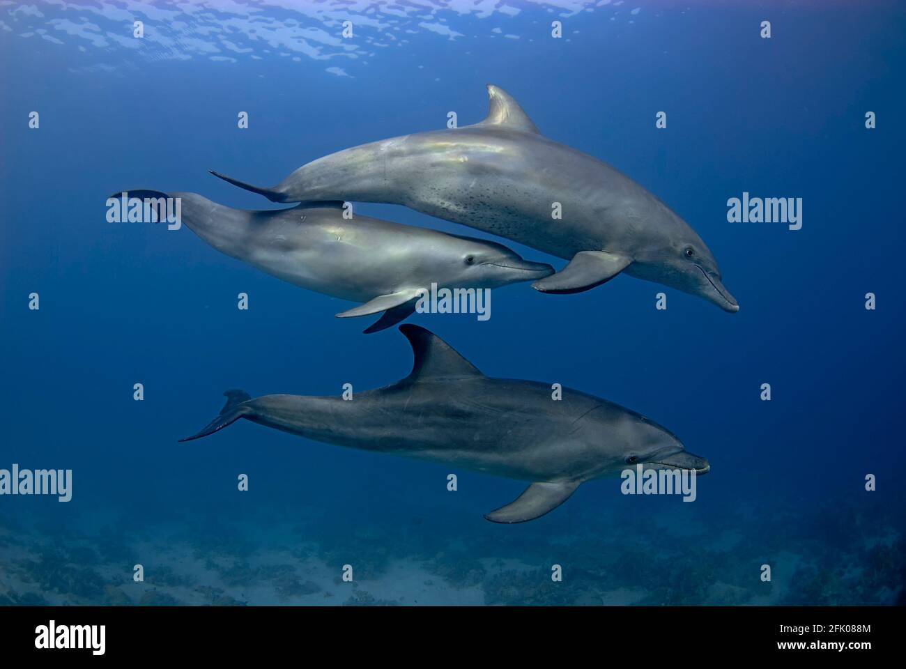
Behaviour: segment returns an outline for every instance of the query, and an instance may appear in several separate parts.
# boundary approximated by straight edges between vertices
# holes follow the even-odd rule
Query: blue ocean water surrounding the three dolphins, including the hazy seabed
[[[883,2],[0,5],[0,468],[71,469],[73,483],[69,502],[0,497],[0,601],[895,603],[904,28]],[[443,128],[449,111],[477,122],[487,83],[674,208],[741,308],[617,276],[577,295],[502,288],[487,322],[410,321],[488,375],[563,383],[669,427],[710,461],[698,499],[593,481],[499,526],[482,514],[524,483],[251,422],[178,443],[228,388],[378,387],[409,373],[410,346],[395,328],[361,335],[360,319],[333,317],[350,303],[187,228],[108,223],[108,195],[272,208],[207,170],[274,184],[336,150]],[[801,198],[802,228],[728,222],[744,192]],[[356,212],[489,238],[396,206]]]

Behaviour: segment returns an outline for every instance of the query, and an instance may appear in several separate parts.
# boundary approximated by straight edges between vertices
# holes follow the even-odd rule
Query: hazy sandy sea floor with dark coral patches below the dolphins
[[[741,509],[708,531],[670,522],[603,535],[429,528],[330,534],[313,512],[223,526],[114,516],[78,528],[0,520],[0,603],[53,605],[891,605],[906,582],[901,517],[837,509],[787,518]],[[573,530],[575,526],[572,526]],[[580,524],[578,527],[582,527]],[[600,525],[599,527],[610,527]],[[740,527],[746,527],[742,531]],[[317,539],[315,539],[317,538]],[[550,556],[558,556],[553,562]],[[142,565],[144,580],[133,579]],[[554,564],[563,580],[555,582]],[[771,565],[763,581],[761,565]],[[344,580],[344,566],[352,581]]]

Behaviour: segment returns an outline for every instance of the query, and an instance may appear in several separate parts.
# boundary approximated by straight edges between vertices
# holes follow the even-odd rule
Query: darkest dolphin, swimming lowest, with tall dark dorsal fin
[[[412,346],[412,372],[352,400],[308,395],[252,399],[230,390],[217,418],[186,439],[240,418],[306,439],[531,481],[515,501],[491,511],[496,523],[536,519],[586,480],[643,470],[708,472],[669,430],[622,406],[551,386],[495,379],[418,325],[400,325]]]

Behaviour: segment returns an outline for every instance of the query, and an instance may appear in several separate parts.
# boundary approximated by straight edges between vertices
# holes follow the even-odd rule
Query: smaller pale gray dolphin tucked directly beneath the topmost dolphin
[[[295,286],[364,303],[337,314],[341,318],[383,312],[366,334],[408,318],[432,283],[467,291],[554,274],[554,267],[524,260],[486,239],[358,214],[345,219],[342,202],[248,211],[197,193],[132,190],[127,195],[146,201],[178,198],[181,222],[218,251]]]

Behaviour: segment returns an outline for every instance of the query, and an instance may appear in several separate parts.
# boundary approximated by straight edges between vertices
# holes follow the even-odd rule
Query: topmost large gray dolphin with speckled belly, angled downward
[[[534,284],[546,293],[581,292],[626,272],[739,310],[708,247],[667,205],[601,160],[543,137],[500,88],[487,92],[480,123],[338,151],[272,189],[213,173],[275,202],[405,205],[569,260]],[[562,218],[553,218],[554,203]]]

